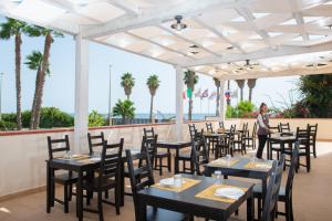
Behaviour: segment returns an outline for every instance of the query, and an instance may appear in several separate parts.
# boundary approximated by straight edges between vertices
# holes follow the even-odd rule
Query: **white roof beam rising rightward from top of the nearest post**
[[[95,27],[89,25],[89,28],[83,30],[81,34],[84,38],[100,38],[131,29],[159,24],[165,21],[173,20],[177,14],[191,17],[203,13],[208,8],[232,8],[238,3],[239,2],[235,0],[187,0],[173,7],[158,7],[151,10],[142,10],[142,13],[136,17],[129,15]]]

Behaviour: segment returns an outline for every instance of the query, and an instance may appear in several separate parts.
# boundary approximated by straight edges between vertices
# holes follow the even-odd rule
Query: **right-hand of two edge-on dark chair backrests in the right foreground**
[[[287,198],[291,198],[292,196],[293,179],[298,167],[298,160],[299,160],[299,141],[295,143],[294,148],[292,150],[291,166],[288,171],[287,183],[286,183]]]

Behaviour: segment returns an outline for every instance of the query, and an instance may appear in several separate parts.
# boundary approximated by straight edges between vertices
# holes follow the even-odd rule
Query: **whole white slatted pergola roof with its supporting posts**
[[[1,0],[0,13],[75,36],[75,148],[87,131],[89,41],[225,80],[332,73],[330,0]],[[183,15],[187,28],[170,28]],[[224,96],[220,98],[224,117]]]

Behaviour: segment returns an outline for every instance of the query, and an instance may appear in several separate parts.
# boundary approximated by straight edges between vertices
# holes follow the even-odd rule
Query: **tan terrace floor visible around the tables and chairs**
[[[312,170],[310,173],[304,171],[304,168],[295,175],[293,186],[293,203],[294,218],[301,221],[312,220],[331,220],[332,209],[332,143],[318,144],[318,158],[312,158]],[[288,170],[287,170],[288,171]],[[287,178],[287,171],[283,175],[283,182]],[[167,176],[167,172],[164,172]],[[156,179],[160,177],[155,172]],[[3,180],[2,180],[3,181]],[[58,192],[62,192],[59,189]],[[113,197],[111,196],[111,199]],[[279,206],[282,210],[283,204]],[[45,212],[45,192],[41,191],[33,194],[13,198],[6,201],[0,201],[0,220],[1,221],[55,221],[55,220],[76,220],[75,218],[75,201],[70,203],[70,213],[63,213],[62,206],[55,204],[52,212]],[[125,197],[125,207],[121,209],[121,215],[115,214],[115,209],[111,206],[104,206],[105,220],[121,221],[135,220],[134,207],[131,197]],[[246,220],[246,206],[240,209],[236,220]],[[97,215],[84,212],[84,220],[97,220]],[[201,220],[201,219],[197,219]],[[279,217],[278,220],[284,220]]]

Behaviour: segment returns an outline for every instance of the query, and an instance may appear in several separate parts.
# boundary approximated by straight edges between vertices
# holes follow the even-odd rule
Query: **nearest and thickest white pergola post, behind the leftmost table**
[[[89,127],[89,42],[82,35],[75,36],[75,118],[74,152],[87,151]]]

